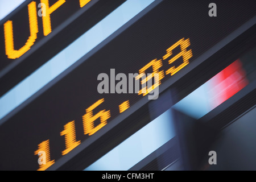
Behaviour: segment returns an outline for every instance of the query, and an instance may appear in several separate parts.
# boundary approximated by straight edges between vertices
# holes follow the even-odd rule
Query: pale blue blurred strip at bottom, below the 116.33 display
[[[169,109],[84,170],[128,170],[174,137],[174,123]]]

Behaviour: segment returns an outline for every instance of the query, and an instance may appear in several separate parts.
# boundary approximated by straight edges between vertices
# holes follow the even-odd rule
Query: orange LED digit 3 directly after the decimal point
[[[143,93],[143,96],[146,96],[146,94],[150,93],[154,88],[156,88],[157,86],[159,86],[161,84],[161,81],[163,78],[164,78],[164,71],[160,71],[159,72],[159,68],[162,67],[162,60],[157,60],[157,59],[154,59],[152,61],[150,61],[150,63],[148,63],[146,66],[144,66],[143,68],[141,68],[139,70],[139,75],[136,77],[136,80],[142,78],[143,74],[142,73],[145,73],[145,71],[152,67],[153,69],[153,72],[152,72],[152,75],[150,76],[147,76],[146,78],[144,78],[142,81],[141,81],[141,84],[144,85],[148,80],[151,80],[152,77],[155,77],[155,73],[158,73],[158,79],[159,81],[150,86],[150,88],[147,88],[147,86],[144,86],[141,90],[139,90],[139,95]]]

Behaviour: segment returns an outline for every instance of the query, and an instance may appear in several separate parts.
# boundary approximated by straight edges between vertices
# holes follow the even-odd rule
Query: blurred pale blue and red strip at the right
[[[238,59],[175,104],[173,108],[199,119],[234,96],[248,83],[246,72]]]

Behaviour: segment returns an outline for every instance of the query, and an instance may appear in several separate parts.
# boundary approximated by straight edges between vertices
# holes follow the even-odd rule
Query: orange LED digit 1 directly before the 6
[[[65,135],[66,149],[62,151],[62,155],[66,155],[81,143],[80,140],[76,141],[75,121],[71,121],[64,126],[64,130],[60,133],[60,136],[63,135]]]

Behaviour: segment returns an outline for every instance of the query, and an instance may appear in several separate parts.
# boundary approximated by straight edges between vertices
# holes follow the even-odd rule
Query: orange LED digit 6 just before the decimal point
[[[107,124],[107,119],[110,118],[110,110],[105,111],[101,110],[97,114],[93,115],[93,109],[95,109],[98,105],[104,102],[104,98],[95,102],[92,106],[86,109],[86,114],[82,116],[82,123],[84,125],[84,134],[93,135],[98,130],[100,130],[103,126]],[[100,124],[94,126],[94,121],[100,118]]]

